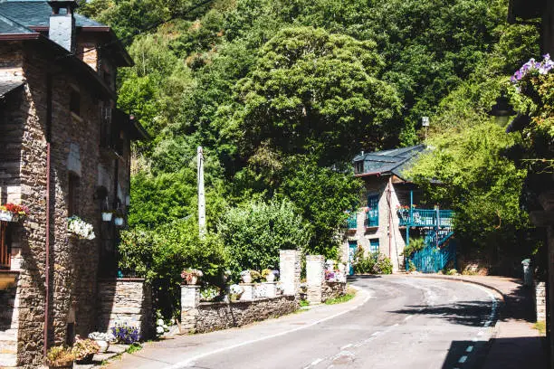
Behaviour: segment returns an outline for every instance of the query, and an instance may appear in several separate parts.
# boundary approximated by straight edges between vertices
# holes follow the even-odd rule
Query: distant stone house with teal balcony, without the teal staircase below
[[[419,205],[423,193],[406,177],[406,168],[410,166],[425,146],[403,147],[372,153],[362,152],[352,160],[354,175],[365,184],[366,206],[349,218],[348,232],[342,244],[341,255],[348,262],[350,273],[351,260],[358,247],[368,252],[379,252],[390,258],[393,271],[405,269],[403,255],[407,241],[412,237],[424,237],[434,229],[435,221],[440,220],[440,236],[435,241],[450,237],[452,212],[438,209],[415,208],[413,212],[402,210],[412,204]],[[438,231],[438,230],[437,230]],[[445,240],[444,240],[445,241]]]

